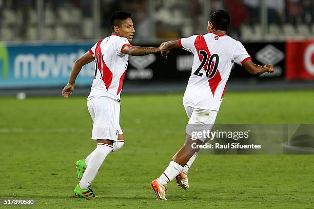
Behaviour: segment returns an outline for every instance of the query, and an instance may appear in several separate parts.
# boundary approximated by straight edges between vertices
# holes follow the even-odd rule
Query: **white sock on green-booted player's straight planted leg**
[[[103,164],[105,158],[112,151],[112,146],[109,144],[98,143],[95,150],[91,153],[87,168],[80,181],[81,189],[87,189],[91,182],[96,177],[99,168]]]

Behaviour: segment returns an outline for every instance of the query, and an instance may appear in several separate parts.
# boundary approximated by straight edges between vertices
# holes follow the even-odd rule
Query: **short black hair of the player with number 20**
[[[230,27],[229,13],[224,10],[218,10],[210,15],[210,22],[216,30],[228,31]]]

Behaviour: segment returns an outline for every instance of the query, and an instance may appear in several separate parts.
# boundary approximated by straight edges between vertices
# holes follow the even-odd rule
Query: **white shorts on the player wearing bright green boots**
[[[87,108],[94,122],[91,138],[117,141],[118,134],[123,134],[120,103],[108,97],[93,97],[87,101]]]

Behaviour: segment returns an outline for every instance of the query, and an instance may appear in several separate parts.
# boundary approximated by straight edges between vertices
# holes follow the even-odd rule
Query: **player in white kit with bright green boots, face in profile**
[[[97,42],[76,60],[69,83],[62,91],[63,97],[68,98],[74,90],[75,79],[82,67],[95,61],[94,80],[87,98],[87,107],[94,122],[91,138],[97,140],[97,146],[85,160],[75,163],[80,183],[75,187],[74,195],[79,197],[96,197],[91,189],[91,182],[106,156],[124,144],[119,125],[120,94],[129,55],[141,56],[160,52],[160,48],[130,44],[135,33],[130,13],[115,12],[111,17],[111,29],[112,35]]]

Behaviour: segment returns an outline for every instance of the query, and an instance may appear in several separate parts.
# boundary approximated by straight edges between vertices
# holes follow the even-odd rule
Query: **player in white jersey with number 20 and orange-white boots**
[[[173,156],[162,175],[150,183],[158,200],[166,200],[167,183],[174,178],[179,186],[189,189],[187,172],[199,151],[191,144],[195,142],[203,144],[208,140],[204,137],[193,141],[191,131],[194,127],[198,129],[197,125],[205,125],[207,130],[211,130],[224,97],[233,63],[242,65],[251,74],[274,71],[269,64],[263,67],[254,64],[243,45],[226,35],[229,24],[229,14],[223,10],[216,11],[210,15],[207,34],[166,42],[161,47],[165,59],[171,49],[182,48],[194,54],[194,61],[183,97],[183,105],[189,118],[185,143]],[[192,130],[188,127],[190,129],[192,127]]]

